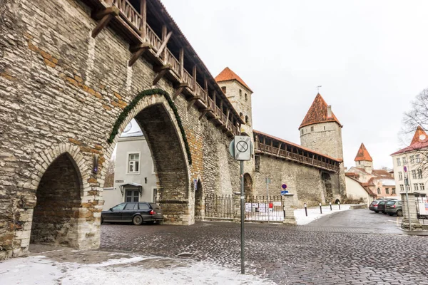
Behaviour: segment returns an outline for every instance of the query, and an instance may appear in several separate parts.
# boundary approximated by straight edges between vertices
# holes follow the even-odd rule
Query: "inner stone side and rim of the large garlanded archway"
[[[150,94],[145,94],[148,92]],[[186,155],[185,133],[178,113],[173,110],[174,103],[163,90],[146,90],[130,105],[133,108],[119,116],[126,119],[121,122],[112,142],[118,141],[119,133],[134,118],[151,152],[157,180],[157,203],[163,209],[165,223],[190,224],[193,221],[189,204],[191,160]]]

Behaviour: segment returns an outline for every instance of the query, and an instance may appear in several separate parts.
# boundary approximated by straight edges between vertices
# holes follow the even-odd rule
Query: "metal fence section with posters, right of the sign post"
[[[284,220],[284,200],[281,195],[245,197],[245,219],[279,222]]]

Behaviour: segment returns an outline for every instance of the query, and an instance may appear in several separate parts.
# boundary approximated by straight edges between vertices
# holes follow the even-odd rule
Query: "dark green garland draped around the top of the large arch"
[[[121,115],[119,115],[118,119],[116,120],[116,123],[114,123],[113,130],[111,130],[110,138],[108,138],[108,142],[112,143],[114,141],[114,138],[116,138],[116,135],[119,133],[119,128],[121,127],[122,123],[126,118],[128,117],[128,113],[133,110],[133,108],[137,105],[138,101],[140,101],[143,97],[151,96],[151,95],[163,95],[166,100],[168,101],[168,105],[170,105],[170,108],[173,109],[175,120],[177,120],[178,127],[180,128],[181,136],[183,137],[184,146],[185,146],[185,152],[188,155],[188,162],[191,165],[192,164],[192,155],[190,154],[190,147],[187,141],[187,137],[185,135],[185,131],[183,128],[183,123],[181,122],[180,115],[178,115],[177,107],[174,104],[174,101],[171,99],[170,95],[162,89],[148,89],[144,90],[141,93],[138,93],[136,95],[136,98],[134,98],[129,105],[127,105]]]

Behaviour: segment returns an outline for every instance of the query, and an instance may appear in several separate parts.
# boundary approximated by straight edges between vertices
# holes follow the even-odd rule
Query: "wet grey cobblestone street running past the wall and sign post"
[[[428,237],[402,234],[396,219],[357,209],[299,227],[245,224],[246,273],[277,284],[428,284]],[[101,230],[104,250],[240,268],[239,224],[103,224]]]

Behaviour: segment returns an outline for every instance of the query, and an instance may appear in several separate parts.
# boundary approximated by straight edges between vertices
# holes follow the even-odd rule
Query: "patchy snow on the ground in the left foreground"
[[[64,252],[66,254],[66,252]],[[101,252],[91,251],[91,254]],[[66,262],[34,256],[0,263],[1,285],[76,284],[272,284],[207,262],[132,255],[95,263]]]

